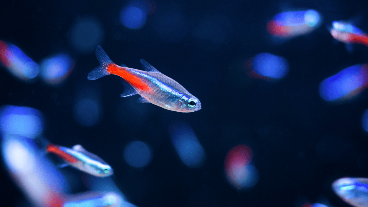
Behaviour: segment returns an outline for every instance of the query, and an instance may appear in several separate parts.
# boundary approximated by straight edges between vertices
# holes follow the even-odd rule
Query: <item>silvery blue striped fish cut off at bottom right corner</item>
[[[333,191],[355,207],[368,207],[368,178],[340,178],[332,183]]]

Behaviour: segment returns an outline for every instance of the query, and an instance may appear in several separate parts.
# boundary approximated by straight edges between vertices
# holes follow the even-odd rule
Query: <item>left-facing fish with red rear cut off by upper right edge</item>
[[[368,35],[361,29],[343,21],[333,21],[330,34],[343,43],[354,43],[368,47]]]

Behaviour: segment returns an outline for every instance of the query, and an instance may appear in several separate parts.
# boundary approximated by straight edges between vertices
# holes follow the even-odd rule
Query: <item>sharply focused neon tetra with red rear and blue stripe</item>
[[[202,107],[198,98],[143,59],[141,63],[145,71],[118,66],[110,60],[101,46],[96,48],[96,57],[100,65],[88,74],[88,80],[96,80],[110,74],[120,76],[124,85],[124,92],[120,97],[139,94],[141,98],[137,102],[149,102],[177,112],[194,112]]]

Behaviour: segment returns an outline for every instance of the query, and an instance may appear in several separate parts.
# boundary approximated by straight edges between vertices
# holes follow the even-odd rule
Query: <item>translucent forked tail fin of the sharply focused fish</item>
[[[96,80],[98,78],[110,75],[107,69],[109,69],[109,65],[113,62],[110,60],[109,56],[107,56],[105,50],[103,50],[101,46],[97,46],[96,48],[96,57],[100,65],[88,73],[88,80]]]

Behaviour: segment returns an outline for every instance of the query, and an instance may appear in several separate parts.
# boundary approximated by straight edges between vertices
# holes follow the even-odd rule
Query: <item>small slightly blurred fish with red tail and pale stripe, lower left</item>
[[[86,151],[79,144],[70,149],[49,143],[46,146],[46,152],[55,154],[74,168],[97,177],[106,177],[113,174],[110,165],[97,155]]]

